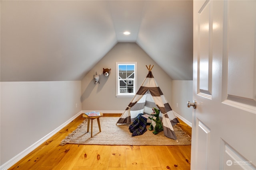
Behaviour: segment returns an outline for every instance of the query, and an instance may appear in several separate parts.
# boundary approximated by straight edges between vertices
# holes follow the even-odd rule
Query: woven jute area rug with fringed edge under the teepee
[[[101,132],[99,132],[97,120],[93,121],[93,130],[91,137],[90,130],[87,133],[87,120],[85,119],[72,133],[62,140],[60,145],[86,144],[86,145],[191,145],[191,138],[177,125],[174,126],[174,132],[177,141],[164,136],[164,132],[154,135],[152,131],[147,130],[143,135],[132,137],[129,131],[129,125],[116,125],[119,117],[100,117]],[[147,126],[147,129],[149,125]]]

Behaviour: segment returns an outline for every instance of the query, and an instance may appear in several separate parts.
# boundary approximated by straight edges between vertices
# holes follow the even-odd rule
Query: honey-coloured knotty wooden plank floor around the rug
[[[120,116],[104,114],[103,116]],[[9,170],[190,170],[191,145],[74,145],[60,142],[82,123],[82,115],[33,150]],[[191,128],[179,124],[187,134]],[[124,139],[125,140],[125,139]]]

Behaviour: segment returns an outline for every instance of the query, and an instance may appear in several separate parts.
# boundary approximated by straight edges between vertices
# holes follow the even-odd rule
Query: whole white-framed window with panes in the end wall
[[[116,97],[133,97],[137,89],[137,62],[116,62]]]

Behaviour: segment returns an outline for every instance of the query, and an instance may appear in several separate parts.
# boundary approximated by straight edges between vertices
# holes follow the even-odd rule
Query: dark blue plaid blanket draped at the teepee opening
[[[142,135],[147,131],[147,118],[142,116],[143,113],[138,114],[132,124],[129,126],[129,130],[132,136]]]

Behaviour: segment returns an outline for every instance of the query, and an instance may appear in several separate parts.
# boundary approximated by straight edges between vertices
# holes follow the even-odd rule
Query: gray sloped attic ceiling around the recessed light
[[[1,0],[0,8],[1,81],[81,80],[118,42],[137,43],[173,80],[192,80],[192,0]]]

